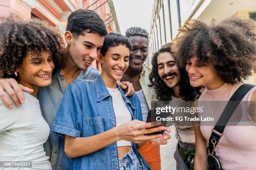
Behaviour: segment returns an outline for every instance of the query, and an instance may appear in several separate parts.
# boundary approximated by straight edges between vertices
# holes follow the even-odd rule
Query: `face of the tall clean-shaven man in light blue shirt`
[[[98,33],[84,31],[84,35],[73,36],[69,31],[65,33],[69,45],[69,55],[72,62],[81,70],[87,70],[100,54],[105,36]]]

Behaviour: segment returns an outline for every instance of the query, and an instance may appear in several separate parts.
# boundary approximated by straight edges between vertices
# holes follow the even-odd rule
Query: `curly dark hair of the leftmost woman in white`
[[[51,53],[54,71],[60,69],[65,44],[56,28],[42,20],[25,21],[14,14],[0,18],[0,78],[16,78],[14,72],[28,52],[40,57],[44,51]]]

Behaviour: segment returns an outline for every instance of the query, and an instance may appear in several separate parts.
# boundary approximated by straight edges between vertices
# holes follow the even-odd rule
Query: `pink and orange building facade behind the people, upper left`
[[[96,6],[100,6],[105,1],[106,0],[99,0],[98,2],[96,2]],[[47,10],[52,16],[54,16],[55,19],[60,21],[61,13],[59,13],[59,11],[56,10],[56,8],[53,5],[51,5],[51,3],[49,1],[36,0],[36,2],[38,2],[42,7],[44,7],[44,9]],[[61,8],[61,10],[63,10],[63,11],[69,10],[70,11],[69,7],[64,3],[63,0],[54,0],[54,2],[56,3],[56,5],[58,5]],[[70,2],[76,7],[76,9],[80,9],[80,8],[85,9],[89,5],[94,3],[93,0],[70,0]],[[102,5],[101,7],[99,7],[96,10],[97,13],[102,13],[103,21],[105,21],[107,18],[110,17],[110,14],[106,13],[106,4],[107,3],[105,3],[104,5]],[[94,10],[95,7],[92,6],[89,9]],[[53,26],[57,25],[57,23],[55,23],[53,20],[51,20],[49,18],[49,16],[47,16],[43,11],[38,9],[38,7],[30,9],[28,6],[25,5],[25,3],[22,2],[22,0],[21,1],[0,0],[0,16],[5,16],[10,13],[16,13],[16,14],[20,15],[21,17],[26,18],[27,20],[31,19],[31,13],[33,13],[33,15],[36,15],[38,18],[40,18],[42,20],[46,20],[50,25],[53,25]],[[106,21],[106,23],[108,23],[110,20]],[[61,24],[66,26],[67,23],[62,22]],[[110,25],[107,25],[107,29],[108,29],[108,32],[113,31],[113,28],[111,28]],[[101,70],[100,63],[96,63],[96,60],[94,62],[92,62],[92,66]]]

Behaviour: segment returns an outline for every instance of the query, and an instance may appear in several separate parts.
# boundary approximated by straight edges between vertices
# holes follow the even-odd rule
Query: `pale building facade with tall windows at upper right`
[[[231,16],[256,20],[256,0],[155,0],[149,30],[149,57],[162,45],[171,42],[187,19],[209,23]],[[256,70],[255,70],[256,71]],[[247,81],[256,85],[256,74]]]

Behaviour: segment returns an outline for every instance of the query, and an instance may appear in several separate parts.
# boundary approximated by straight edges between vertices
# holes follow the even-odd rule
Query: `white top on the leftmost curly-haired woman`
[[[51,170],[43,147],[50,133],[49,125],[37,98],[26,92],[23,95],[26,102],[21,107],[13,104],[8,109],[5,104],[0,105],[0,161],[32,161],[32,168],[15,170]]]

